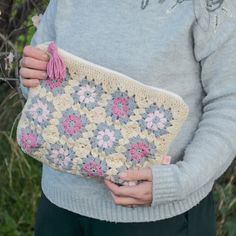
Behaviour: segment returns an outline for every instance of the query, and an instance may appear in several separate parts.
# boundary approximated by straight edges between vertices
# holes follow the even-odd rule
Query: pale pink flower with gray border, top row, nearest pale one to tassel
[[[75,102],[80,103],[81,107],[87,107],[89,110],[97,105],[103,89],[101,85],[97,85],[94,81],[89,81],[87,77],[81,80],[80,85],[74,87],[75,92],[72,97]]]

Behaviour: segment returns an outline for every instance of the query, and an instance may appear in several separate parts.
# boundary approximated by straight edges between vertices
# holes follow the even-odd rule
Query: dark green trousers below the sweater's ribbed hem
[[[75,214],[52,204],[42,194],[35,236],[215,236],[212,192],[189,211],[156,222],[110,223]]]

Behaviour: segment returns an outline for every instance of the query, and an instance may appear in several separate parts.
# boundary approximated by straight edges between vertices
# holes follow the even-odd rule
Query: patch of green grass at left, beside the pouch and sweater
[[[6,84],[0,91],[3,88],[7,90]],[[0,101],[0,235],[33,235],[41,167],[21,152],[15,140],[22,108],[19,95],[10,89]]]

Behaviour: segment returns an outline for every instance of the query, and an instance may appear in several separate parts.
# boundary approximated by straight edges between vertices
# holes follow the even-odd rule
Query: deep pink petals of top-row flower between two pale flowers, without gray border
[[[112,113],[119,117],[128,116],[129,100],[127,97],[118,97],[113,100]]]

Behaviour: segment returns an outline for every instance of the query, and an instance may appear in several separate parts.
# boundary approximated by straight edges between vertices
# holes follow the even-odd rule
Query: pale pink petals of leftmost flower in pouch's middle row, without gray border
[[[47,104],[43,104],[42,101],[37,101],[37,103],[33,104],[33,106],[29,109],[29,112],[33,119],[42,123],[47,120],[49,115],[49,110]]]

